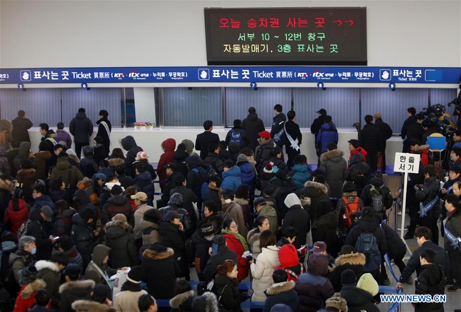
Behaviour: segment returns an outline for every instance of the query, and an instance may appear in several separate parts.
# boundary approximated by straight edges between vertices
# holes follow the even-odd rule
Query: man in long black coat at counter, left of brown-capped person
[[[377,168],[378,152],[381,150],[381,132],[373,124],[373,116],[365,116],[364,128],[358,134],[358,142],[360,147],[367,151],[367,163],[370,165],[371,171],[375,172]]]

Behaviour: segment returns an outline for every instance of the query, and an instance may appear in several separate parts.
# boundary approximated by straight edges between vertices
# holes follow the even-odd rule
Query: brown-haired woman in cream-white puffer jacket
[[[251,261],[250,269],[253,276],[253,296],[251,301],[265,301],[264,292],[272,285],[272,273],[278,261],[278,248],[275,246],[277,240],[270,230],[266,230],[259,236],[261,253],[256,263]]]

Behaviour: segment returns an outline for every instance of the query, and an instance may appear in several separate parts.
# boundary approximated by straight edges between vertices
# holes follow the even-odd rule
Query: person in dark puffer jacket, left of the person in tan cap
[[[101,223],[106,224],[116,214],[123,214],[127,218],[128,223],[134,226],[133,207],[128,202],[126,196],[123,195],[122,187],[115,184],[112,186],[111,194],[112,197],[107,200],[107,203],[101,210]]]

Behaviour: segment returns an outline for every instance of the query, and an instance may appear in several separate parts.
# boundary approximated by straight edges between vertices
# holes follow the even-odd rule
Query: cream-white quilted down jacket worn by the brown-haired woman
[[[266,290],[272,285],[272,273],[274,268],[280,265],[278,261],[278,248],[267,246],[262,248],[256,263],[250,265],[253,276],[253,296],[251,301],[265,301]]]

